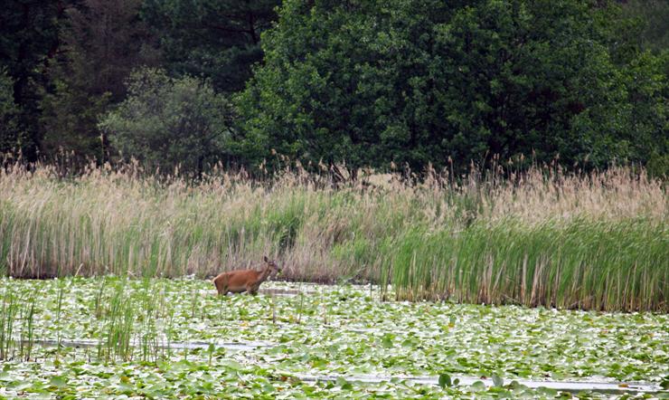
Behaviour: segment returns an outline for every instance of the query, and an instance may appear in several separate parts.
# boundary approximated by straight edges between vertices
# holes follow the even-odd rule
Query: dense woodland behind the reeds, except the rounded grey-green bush
[[[148,66],[239,94],[235,140],[212,162],[256,167],[276,151],[422,169],[523,154],[661,175],[667,18],[662,0],[11,0],[0,151],[119,159],[99,122]]]

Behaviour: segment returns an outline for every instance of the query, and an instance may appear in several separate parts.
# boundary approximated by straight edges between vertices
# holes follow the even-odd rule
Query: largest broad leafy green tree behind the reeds
[[[247,157],[636,157],[636,105],[600,12],[579,0],[287,0],[239,97]]]

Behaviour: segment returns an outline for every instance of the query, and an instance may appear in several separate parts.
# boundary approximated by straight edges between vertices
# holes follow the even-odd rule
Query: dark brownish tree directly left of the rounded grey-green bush
[[[142,0],[83,0],[66,10],[61,55],[50,67],[51,88],[42,98],[42,150],[61,149],[80,158],[103,159],[107,140],[99,116],[125,96],[124,81],[140,65],[158,59],[138,19]]]

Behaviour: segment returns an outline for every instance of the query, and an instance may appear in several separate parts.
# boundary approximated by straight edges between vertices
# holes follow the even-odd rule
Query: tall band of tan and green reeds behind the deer
[[[625,167],[423,176],[8,167],[0,271],[204,278],[267,254],[287,279],[379,282],[398,299],[669,310],[662,181]]]

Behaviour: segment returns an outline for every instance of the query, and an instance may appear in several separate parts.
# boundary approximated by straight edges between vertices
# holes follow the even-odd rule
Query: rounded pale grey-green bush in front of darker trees
[[[165,71],[134,72],[127,99],[99,122],[122,157],[171,172],[175,166],[201,175],[224,157],[231,135],[232,107],[210,81]]]

